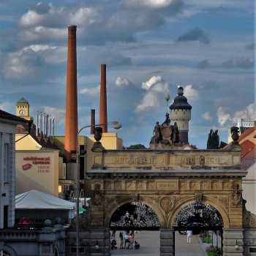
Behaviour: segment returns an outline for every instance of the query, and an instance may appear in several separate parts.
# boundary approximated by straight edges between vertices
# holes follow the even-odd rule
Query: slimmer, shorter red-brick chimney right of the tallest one
[[[99,124],[107,124],[107,83],[106,83],[106,65],[101,64],[100,78],[100,97],[99,97]],[[108,132],[108,125],[102,125],[102,132]]]

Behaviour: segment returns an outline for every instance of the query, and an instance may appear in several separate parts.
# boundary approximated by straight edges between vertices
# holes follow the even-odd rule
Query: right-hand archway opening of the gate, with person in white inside
[[[174,255],[177,249],[179,254],[184,253],[178,245],[179,241],[192,243],[192,246],[197,244],[205,252],[222,255],[223,219],[214,206],[202,202],[190,203],[176,214],[173,230]]]

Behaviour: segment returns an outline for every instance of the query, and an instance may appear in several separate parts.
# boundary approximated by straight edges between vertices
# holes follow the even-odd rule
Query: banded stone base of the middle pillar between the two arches
[[[160,229],[160,256],[173,256],[173,229]]]

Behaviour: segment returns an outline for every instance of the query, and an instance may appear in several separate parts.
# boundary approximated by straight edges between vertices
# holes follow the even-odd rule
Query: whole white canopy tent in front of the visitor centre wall
[[[20,216],[20,214],[26,214],[26,217],[29,217],[28,215],[31,214],[31,210],[33,210],[32,212],[34,213],[37,210],[41,210],[37,211],[37,216],[40,213],[43,214],[43,212],[48,212],[49,217],[53,216],[53,211],[58,211],[59,214],[61,214],[61,212],[68,212],[69,222],[72,217],[75,216],[74,203],[59,197],[54,197],[37,190],[31,190],[15,196],[15,215],[17,215],[17,217]],[[45,214],[42,218],[44,217]]]

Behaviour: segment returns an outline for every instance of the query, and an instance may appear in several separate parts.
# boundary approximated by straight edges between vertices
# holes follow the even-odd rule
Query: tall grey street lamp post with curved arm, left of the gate
[[[118,121],[110,121],[108,122],[108,124],[112,124],[114,129],[120,129],[121,128],[121,124],[118,124]],[[80,186],[80,147],[79,147],[79,135],[80,132],[82,132],[83,129],[89,128],[89,127],[99,127],[102,125],[108,125],[108,124],[94,124],[94,125],[86,125],[85,127],[82,127],[79,131],[78,131],[78,136],[77,136],[77,167],[78,167],[78,171],[77,171],[77,199],[76,199],[76,211],[77,211],[77,236],[76,236],[76,240],[77,240],[77,256],[79,256],[79,222],[78,222],[78,217],[79,217],[79,198],[80,198],[80,192],[79,192],[79,186]]]

